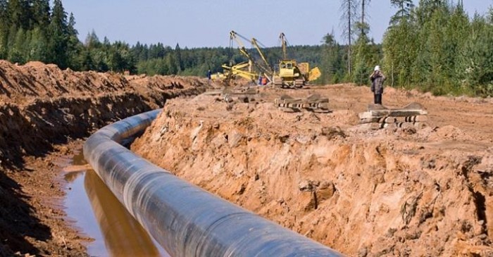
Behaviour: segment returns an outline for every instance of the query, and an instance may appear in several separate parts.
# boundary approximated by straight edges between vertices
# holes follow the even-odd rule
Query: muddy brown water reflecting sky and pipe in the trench
[[[73,165],[85,165],[81,153]],[[81,166],[82,167],[82,166]],[[65,211],[84,234],[94,238],[87,245],[90,256],[169,256],[116,199],[94,170],[65,175],[70,190]]]

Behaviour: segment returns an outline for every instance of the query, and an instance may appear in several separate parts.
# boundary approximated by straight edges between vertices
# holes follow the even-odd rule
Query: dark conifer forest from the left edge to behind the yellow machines
[[[0,0],[0,58],[13,63],[55,63],[72,70],[113,71],[148,75],[206,75],[222,72],[221,65],[246,61],[236,49],[216,47],[181,49],[157,44],[134,46],[99,39],[90,32],[80,42],[75,18],[61,0]],[[226,35],[227,36],[227,35]],[[320,63],[320,46],[292,46],[293,58]],[[265,49],[271,63],[280,48]]]

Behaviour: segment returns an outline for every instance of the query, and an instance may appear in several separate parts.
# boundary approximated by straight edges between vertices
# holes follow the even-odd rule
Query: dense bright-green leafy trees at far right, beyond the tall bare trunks
[[[397,13],[382,64],[397,87],[434,94],[493,95],[493,9],[472,18],[462,1],[392,0]]]

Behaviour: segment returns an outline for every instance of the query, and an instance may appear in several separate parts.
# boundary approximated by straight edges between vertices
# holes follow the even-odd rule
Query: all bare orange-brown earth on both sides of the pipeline
[[[132,150],[348,256],[493,256],[493,100],[387,87],[419,126],[372,130],[369,87],[253,87],[0,61],[0,256],[86,256],[63,167],[91,132],[163,106]],[[201,94],[201,93],[206,94]],[[245,94],[245,92],[247,94]],[[328,98],[329,112],[277,108]]]

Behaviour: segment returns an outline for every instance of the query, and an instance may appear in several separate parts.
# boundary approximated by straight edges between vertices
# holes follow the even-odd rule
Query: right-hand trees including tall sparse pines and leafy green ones
[[[396,13],[382,45],[377,45],[368,38],[370,25],[364,13],[368,4],[370,0],[342,0],[345,46],[337,44],[333,35],[325,36],[328,68],[340,62],[341,48],[346,53],[345,81],[365,84],[373,66],[380,63],[394,87],[437,95],[493,96],[493,8],[470,18],[461,0],[455,4],[420,0],[416,6],[412,0],[390,0]]]

